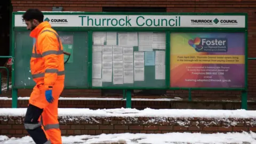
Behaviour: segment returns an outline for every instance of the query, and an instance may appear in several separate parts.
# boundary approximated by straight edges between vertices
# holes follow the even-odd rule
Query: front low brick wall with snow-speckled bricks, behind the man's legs
[[[256,119],[171,117],[59,117],[62,135],[169,132],[256,132]],[[0,135],[24,137],[23,117],[0,116]]]

